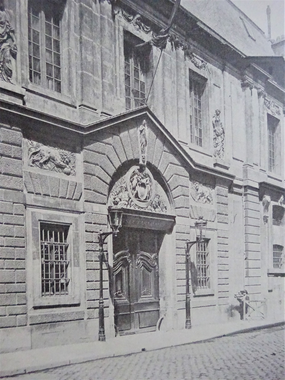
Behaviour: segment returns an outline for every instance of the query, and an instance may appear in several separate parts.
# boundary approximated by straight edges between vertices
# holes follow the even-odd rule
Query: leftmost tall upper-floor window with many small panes
[[[30,82],[62,91],[60,19],[49,2],[28,3]]]

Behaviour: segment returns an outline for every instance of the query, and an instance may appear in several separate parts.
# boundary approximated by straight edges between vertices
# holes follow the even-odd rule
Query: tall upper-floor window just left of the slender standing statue
[[[189,71],[190,141],[203,146],[203,92],[205,82]]]

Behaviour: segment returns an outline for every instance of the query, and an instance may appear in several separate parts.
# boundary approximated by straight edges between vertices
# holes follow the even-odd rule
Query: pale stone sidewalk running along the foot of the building
[[[5,353],[0,356],[0,377],[23,374],[68,364],[151,351],[201,342],[215,337],[285,324],[285,321],[238,321],[221,325],[195,326],[190,330],[156,331],[119,336],[106,342],[90,342]]]

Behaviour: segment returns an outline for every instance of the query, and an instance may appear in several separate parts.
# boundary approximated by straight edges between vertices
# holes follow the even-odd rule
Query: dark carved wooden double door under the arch
[[[120,335],[156,329],[161,239],[158,231],[133,228],[113,237],[114,319]]]

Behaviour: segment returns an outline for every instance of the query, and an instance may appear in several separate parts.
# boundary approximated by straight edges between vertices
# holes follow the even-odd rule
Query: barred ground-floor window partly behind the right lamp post
[[[209,253],[207,241],[196,243],[197,288],[210,288]]]

